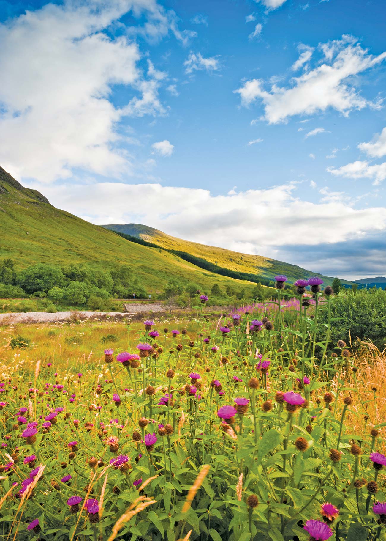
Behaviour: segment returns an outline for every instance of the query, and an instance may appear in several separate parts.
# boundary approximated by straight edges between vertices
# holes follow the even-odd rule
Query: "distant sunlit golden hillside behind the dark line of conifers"
[[[295,281],[297,278],[309,278],[310,276],[322,276],[326,285],[331,285],[332,280],[329,276],[323,276],[315,271],[308,271],[297,265],[290,265],[283,261],[265,258],[262,255],[248,255],[239,252],[232,252],[225,248],[217,248],[215,246],[207,246],[198,242],[190,242],[177,237],[173,237],[154,229],[152,227],[143,226],[138,223],[111,224],[103,226],[105,228],[119,231],[127,235],[137,236],[141,239],[153,242],[163,248],[181,250],[195,255],[198,258],[203,258],[211,263],[215,263],[219,267],[232,269],[233,271],[254,273],[264,278],[274,279],[277,274],[285,274],[290,281]],[[347,280],[342,280],[343,283],[350,284]]]

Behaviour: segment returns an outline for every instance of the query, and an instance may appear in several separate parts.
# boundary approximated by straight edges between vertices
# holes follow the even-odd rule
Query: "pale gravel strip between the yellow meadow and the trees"
[[[150,305],[150,304],[141,304],[141,305],[129,305],[128,312],[82,312],[79,311],[79,314],[82,318],[91,318],[91,316],[103,317],[103,316],[127,316],[130,314],[135,314],[137,312],[161,312],[164,307],[161,305]],[[74,312],[55,312],[51,314],[49,312],[14,312],[10,314],[0,314],[0,324],[4,321],[8,323],[31,323],[31,322],[41,322],[41,321],[65,321],[71,318],[71,314]]]

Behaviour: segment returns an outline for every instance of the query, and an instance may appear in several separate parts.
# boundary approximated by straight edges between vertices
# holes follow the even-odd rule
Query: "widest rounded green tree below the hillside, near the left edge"
[[[24,269],[18,276],[18,282],[26,293],[47,293],[51,287],[63,287],[65,280],[61,268],[37,263]]]

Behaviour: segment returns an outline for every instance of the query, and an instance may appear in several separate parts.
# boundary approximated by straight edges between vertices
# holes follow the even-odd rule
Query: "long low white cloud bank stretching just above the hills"
[[[47,188],[44,194],[52,204],[94,223],[145,223],[183,239],[245,253],[268,255],[273,247],[291,245],[294,239],[318,245],[386,228],[384,208],[355,209],[344,200],[303,201],[296,194],[296,183],[239,193],[234,188],[231,195],[121,182],[98,183],[92,189]],[[264,223],[259,235],[250,227],[256,216]]]

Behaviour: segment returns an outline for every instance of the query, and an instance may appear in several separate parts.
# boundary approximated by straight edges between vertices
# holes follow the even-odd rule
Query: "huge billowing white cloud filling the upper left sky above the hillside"
[[[172,32],[185,39],[174,12],[155,0],[47,4],[0,24],[3,167],[45,182],[69,177],[74,168],[130,174],[122,149],[128,138],[118,134],[117,124],[125,115],[165,113],[158,97],[165,74],[150,61],[144,74],[138,45],[105,33],[130,9],[145,21],[145,35]],[[128,89],[121,108],[109,101],[117,84]]]

